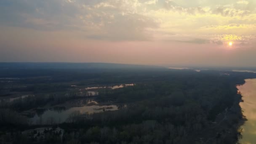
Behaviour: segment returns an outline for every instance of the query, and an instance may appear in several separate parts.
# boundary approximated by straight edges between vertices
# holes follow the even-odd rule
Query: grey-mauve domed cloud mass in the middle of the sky
[[[99,27],[99,33],[92,33],[88,38],[97,40],[150,40],[147,28],[157,28],[157,24],[145,16],[137,14],[115,15],[109,23]]]

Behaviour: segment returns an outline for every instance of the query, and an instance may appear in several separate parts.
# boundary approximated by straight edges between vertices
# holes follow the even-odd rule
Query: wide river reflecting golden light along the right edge
[[[256,144],[256,79],[246,79],[244,85],[237,86],[243,96],[244,102],[240,102],[247,121],[242,126],[243,139],[241,144]]]

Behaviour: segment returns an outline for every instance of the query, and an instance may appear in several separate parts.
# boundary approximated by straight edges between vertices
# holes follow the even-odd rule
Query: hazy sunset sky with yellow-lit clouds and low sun
[[[0,0],[0,62],[255,61],[256,0]]]

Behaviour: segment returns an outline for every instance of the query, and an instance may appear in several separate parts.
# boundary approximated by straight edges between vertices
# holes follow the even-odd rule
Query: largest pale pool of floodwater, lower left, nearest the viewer
[[[30,118],[30,124],[64,123],[70,115],[93,114],[117,109],[117,105],[101,105],[93,100],[69,101],[48,109],[36,109],[36,114]]]

